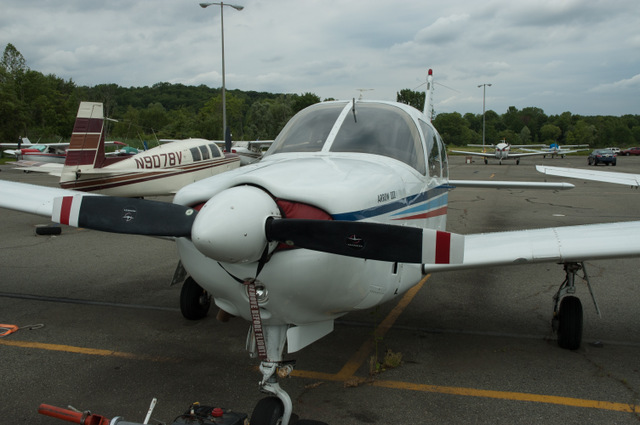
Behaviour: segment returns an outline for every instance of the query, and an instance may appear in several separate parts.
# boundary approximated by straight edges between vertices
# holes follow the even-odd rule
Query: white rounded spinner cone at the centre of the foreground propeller
[[[198,212],[191,229],[195,247],[226,263],[258,261],[268,244],[265,222],[280,217],[275,201],[254,186],[236,186],[213,196]],[[270,250],[277,243],[270,244]]]

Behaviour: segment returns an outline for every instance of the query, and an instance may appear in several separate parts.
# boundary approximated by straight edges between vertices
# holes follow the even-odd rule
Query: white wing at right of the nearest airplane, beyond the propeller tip
[[[543,262],[640,256],[640,221],[464,235],[459,264],[425,264],[425,273]]]

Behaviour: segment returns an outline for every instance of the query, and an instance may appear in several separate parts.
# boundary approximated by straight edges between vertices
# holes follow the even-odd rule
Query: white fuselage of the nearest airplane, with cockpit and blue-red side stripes
[[[447,173],[444,146],[421,112],[396,103],[329,102],[296,115],[260,162],[191,184],[174,202],[198,208],[250,185],[273,198],[285,219],[324,214],[444,230]],[[256,277],[257,262],[217,262],[187,238],[178,250],[220,308],[250,319],[240,282]],[[387,301],[421,278],[419,264],[278,247],[257,275],[261,316],[268,324],[327,321]]]

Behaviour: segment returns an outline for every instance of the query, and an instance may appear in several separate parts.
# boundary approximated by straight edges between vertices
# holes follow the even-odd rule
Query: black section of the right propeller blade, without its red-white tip
[[[422,263],[423,229],[332,220],[269,220],[267,239],[371,260]]]

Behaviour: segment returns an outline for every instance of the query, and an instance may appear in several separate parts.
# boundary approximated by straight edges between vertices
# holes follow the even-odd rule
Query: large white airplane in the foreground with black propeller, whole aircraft
[[[354,99],[302,110],[262,160],[188,185],[173,203],[0,180],[0,207],[71,226],[175,238],[176,272],[189,275],[183,312],[201,317],[211,299],[220,316],[250,323],[247,349],[260,358],[260,387],[270,394],[251,424],[287,425],[293,405],[278,383],[293,369],[285,347],[300,350],[329,334],[335,319],[399,297],[425,274],[562,263],[553,322],[559,345],[576,349],[576,272],[586,260],[640,255],[640,221],[449,233],[455,186],[572,187],[451,180],[429,114]]]

